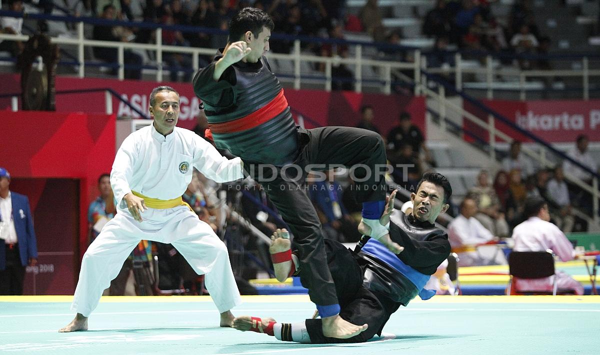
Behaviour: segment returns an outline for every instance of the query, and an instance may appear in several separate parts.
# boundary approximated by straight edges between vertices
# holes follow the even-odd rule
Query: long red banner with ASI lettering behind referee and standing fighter
[[[20,92],[19,76],[17,74],[0,75],[4,83],[0,94]],[[196,125],[200,101],[194,94],[191,83],[157,83],[142,80],[76,79],[57,77],[56,91],[111,88],[121,94],[133,107],[141,112],[148,112],[149,95],[158,85],[169,85],[179,92],[181,98],[181,113],[178,126],[192,129]],[[307,128],[326,125],[354,126],[360,119],[360,108],[364,104],[374,107],[376,125],[382,134],[398,124],[398,115],[407,111],[412,115],[413,123],[425,134],[425,99],[422,97],[407,97],[401,95],[356,94],[355,92],[325,92],[322,90],[284,89],[287,102],[295,112],[306,116],[304,124]],[[140,118],[121,100],[113,98],[113,113],[117,117],[130,116]],[[10,99],[0,100],[0,109],[10,109]],[[89,92],[82,94],[57,94],[56,111],[105,113],[106,101],[104,92]],[[297,116],[297,115],[294,115]],[[315,121],[314,123],[311,122]]]

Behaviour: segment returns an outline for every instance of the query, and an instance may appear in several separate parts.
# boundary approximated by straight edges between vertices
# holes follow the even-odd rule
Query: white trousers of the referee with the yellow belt
[[[187,206],[148,208],[142,218],[137,222],[128,210],[119,208],[115,218],[104,225],[83,255],[71,310],[89,317],[103,290],[142,239],[171,243],[196,273],[205,274],[206,289],[220,313],[241,304],[227,248],[196,213]]]

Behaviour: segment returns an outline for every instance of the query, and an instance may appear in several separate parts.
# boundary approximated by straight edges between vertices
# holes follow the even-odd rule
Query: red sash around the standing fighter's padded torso
[[[250,130],[250,128],[262,125],[279,115],[287,109],[287,100],[283,95],[283,89],[270,103],[250,113],[250,115],[220,124],[208,124],[212,133],[233,133]]]

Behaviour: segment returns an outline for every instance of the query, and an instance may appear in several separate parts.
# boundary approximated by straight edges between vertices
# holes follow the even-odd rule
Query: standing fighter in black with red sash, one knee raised
[[[380,208],[379,216],[385,206],[385,180],[383,173],[374,172],[376,165],[386,164],[385,146],[379,135],[358,128],[304,130],[295,126],[283,89],[264,56],[273,28],[262,10],[238,11],[230,22],[229,43],[218,50],[208,67],[196,73],[194,92],[205,104],[217,148],[229,149],[242,158],[244,170],[262,183],[289,225],[302,255],[302,282],[326,317],[323,331],[335,338],[349,338],[366,326],[347,323],[338,316],[340,306],[326,267],[319,218],[302,183],[308,164],[322,164],[322,170],[328,169],[328,164],[362,164],[354,170],[357,180],[367,177],[361,181],[362,188],[357,188],[357,200]],[[270,167],[260,169],[259,164]]]

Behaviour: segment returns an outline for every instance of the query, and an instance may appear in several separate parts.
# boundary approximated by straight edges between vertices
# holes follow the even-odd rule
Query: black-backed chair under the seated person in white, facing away
[[[556,296],[556,272],[554,270],[554,254],[546,251],[512,251],[508,257],[508,269],[511,278],[506,288],[506,296],[511,294],[512,278],[539,279],[553,276],[552,295]],[[515,292],[521,293],[519,290]],[[550,294],[544,291],[526,292],[526,294]]]

